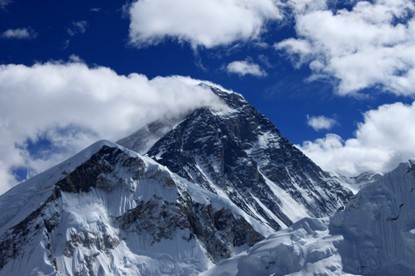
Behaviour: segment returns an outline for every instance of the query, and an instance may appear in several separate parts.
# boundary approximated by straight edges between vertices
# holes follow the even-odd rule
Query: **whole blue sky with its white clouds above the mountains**
[[[415,156],[414,12],[410,0],[0,0],[0,192],[212,103],[195,80],[243,94],[327,170],[391,169]]]

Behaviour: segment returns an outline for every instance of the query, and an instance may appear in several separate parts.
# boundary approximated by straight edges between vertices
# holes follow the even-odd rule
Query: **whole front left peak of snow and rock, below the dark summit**
[[[0,208],[0,275],[190,275],[270,233],[111,142],[12,189]]]

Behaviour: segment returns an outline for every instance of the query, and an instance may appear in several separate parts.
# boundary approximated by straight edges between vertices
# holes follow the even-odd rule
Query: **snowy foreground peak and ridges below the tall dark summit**
[[[59,186],[94,158],[100,169],[116,160],[100,173],[99,186]],[[127,163],[140,169],[131,171]],[[32,179],[32,189],[18,186],[1,197],[0,275],[414,275],[410,164],[368,184],[332,218],[304,218],[272,233],[229,200],[153,160],[99,142]],[[94,166],[87,169],[94,174]],[[125,181],[137,177],[140,181]],[[211,232],[198,233],[187,225],[182,208],[188,204],[199,206],[188,215],[200,216],[200,229],[214,225]],[[36,205],[41,207],[30,213]],[[210,210],[207,217],[204,208]],[[210,221],[225,209],[230,211],[223,226],[218,226],[221,219]],[[234,247],[226,241],[229,232],[231,240],[251,236]],[[243,251],[249,240],[262,239],[257,233],[267,238]],[[220,259],[223,250],[236,255],[215,265],[212,260]]]

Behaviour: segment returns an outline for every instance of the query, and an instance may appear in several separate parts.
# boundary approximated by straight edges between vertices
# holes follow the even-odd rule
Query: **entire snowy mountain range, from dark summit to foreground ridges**
[[[412,163],[348,181],[371,182],[353,195],[241,95],[200,86],[222,104],[99,141],[0,196],[0,275],[415,270]]]

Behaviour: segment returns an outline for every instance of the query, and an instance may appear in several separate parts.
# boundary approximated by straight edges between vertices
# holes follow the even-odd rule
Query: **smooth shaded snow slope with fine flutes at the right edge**
[[[344,270],[365,275],[415,275],[414,161],[365,186],[330,224]]]

